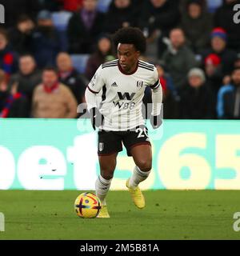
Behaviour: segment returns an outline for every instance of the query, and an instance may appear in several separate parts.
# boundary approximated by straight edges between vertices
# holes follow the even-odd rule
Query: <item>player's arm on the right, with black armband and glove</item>
[[[152,113],[150,117],[151,126],[157,129],[162,125],[161,106],[162,106],[162,86],[158,78],[158,71],[154,69],[153,83],[150,85],[152,89]]]

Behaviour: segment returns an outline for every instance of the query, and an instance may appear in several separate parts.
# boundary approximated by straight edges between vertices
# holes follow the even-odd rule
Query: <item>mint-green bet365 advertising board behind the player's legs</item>
[[[153,150],[144,190],[240,190],[240,121],[149,122]],[[1,190],[94,190],[98,138],[89,119],[1,119]],[[125,190],[134,161],[118,154],[111,190]]]

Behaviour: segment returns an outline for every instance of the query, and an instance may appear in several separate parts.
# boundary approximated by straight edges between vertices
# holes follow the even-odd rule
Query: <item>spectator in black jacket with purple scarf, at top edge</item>
[[[91,54],[99,34],[102,33],[104,14],[97,10],[97,0],[83,0],[80,12],[69,21],[67,34],[71,54]]]

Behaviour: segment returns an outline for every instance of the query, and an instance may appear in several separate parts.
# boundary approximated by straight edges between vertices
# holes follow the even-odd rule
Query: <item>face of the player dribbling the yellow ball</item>
[[[130,73],[136,68],[139,55],[140,52],[135,49],[134,45],[118,44],[118,60],[124,72]]]

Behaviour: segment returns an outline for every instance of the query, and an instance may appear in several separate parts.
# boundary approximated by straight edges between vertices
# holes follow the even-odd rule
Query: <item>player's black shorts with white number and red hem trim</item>
[[[122,151],[122,143],[126,147],[127,155],[131,156],[131,149],[138,145],[151,145],[146,126],[138,126],[128,131],[98,131],[98,155],[110,155]]]

